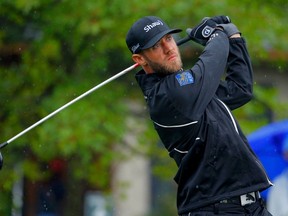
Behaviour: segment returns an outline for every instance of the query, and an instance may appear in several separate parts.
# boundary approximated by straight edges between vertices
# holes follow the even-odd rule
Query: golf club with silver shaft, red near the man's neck
[[[187,30],[188,33],[188,30]],[[179,41],[177,41],[177,45],[180,46],[184,43],[186,43],[187,41],[191,40],[191,38],[189,36],[180,39]],[[65,105],[63,105],[62,107],[58,108],[57,110],[55,110],[54,112],[50,113],[49,115],[47,115],[46,117],[40,119],[39,121],[37,121],[36,123],[34,123],[33,125],[31,125],[30,127],[26,128],[25,130],[23,130],[22,132],[18,133],[17,135],[15,135],[14,137],[12,137],[11,139],[7,140],[4,143],[0,144],[0,149],[4,148],[6,145],[8,145],[9,143],[13,142],[14,140],[16,140],[17,138],[19,138],[20,136],[24,135],[25,133],[27,133],[28,131],[32,130],[33,128],[35,128],[36,126],[40,125],[41,123],[43,123],[44,121],[50,119],[51,117],[53,117],[54,115],[56,115],[57,113],[61,112],[62,110],[64,110],[65,108],[67,108],[68,106],[74,104],[75,102],[79,101],[80,99],[86,97],[87,95],[91,94],[92,92],[94,92],[95,90],[99,89],[100,87],[104,86],[105,84],[117,79],[118,77],[126,74],[127,72],[135,69],[136,67],[138,67],[139,64],[136,63],[128,68],[126,68],[125,70],[119,72],[118,74],[110,77],[109,79],[105,80],[104,82],[98,84],[97,86],[93,87],[92,89],[86,91],[85,93],[81,94],[80,96],[76,97],[75,99],[73,99],[72,101],[66,103]],[[3,166],[3,157],[2,154],[0,152],[0,169]]]

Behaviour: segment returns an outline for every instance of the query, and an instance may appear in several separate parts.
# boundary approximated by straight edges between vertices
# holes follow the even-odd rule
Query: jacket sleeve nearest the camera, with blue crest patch
[[[179,79],[169,79],[167,92],[174,106],[192,120],[197,120],[204,113],[207,105],[215,97],[223,76],[229,53],[229,40],[222,31],[207,43],[196,64],[187,71],[178,72],[178,77],[191,77],[193,82],[182,85]],[[173,88],[171,88],[173,86]]]

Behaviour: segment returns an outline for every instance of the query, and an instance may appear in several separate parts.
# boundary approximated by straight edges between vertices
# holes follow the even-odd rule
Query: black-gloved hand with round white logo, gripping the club
[[[202,19],[201,23],[194,28],[188,28],[186,33],[192,40],[205,46],[218,24],[230,22],[231,20],[228,16],[205,17]]]

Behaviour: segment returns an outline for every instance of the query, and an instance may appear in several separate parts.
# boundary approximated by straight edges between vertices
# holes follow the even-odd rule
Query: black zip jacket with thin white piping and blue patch
[[[230,112],[252,97],[252,67],[243,38],[228,39],[216,31],[191,69],[171,75],[142,70],[136,80],[179,168],[179,214],[271,185]]]

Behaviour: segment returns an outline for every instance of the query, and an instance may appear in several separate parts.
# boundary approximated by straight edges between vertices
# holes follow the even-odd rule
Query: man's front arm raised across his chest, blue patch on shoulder
[[[222,30],[215,30],[205,40],[205,49],[191,69],[165,76],[161,85],[156,85],[149,92],[149,95],[154,95],[149,97],[153,99],[148,100],[149,107],[154,107],[154,110],[150,110],[154,122],[181,125],[198,120],[215,97],[227,65],[229,40]]]

